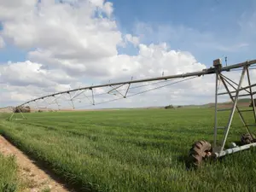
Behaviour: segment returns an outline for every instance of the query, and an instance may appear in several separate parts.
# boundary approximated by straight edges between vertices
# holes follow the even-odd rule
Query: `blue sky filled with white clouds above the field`
[[[254,0],[0,0],[0,107],[199,71],[224,56],[228,64],[252,60],[255,43]],[[214,77],[201,77],[94,108],[202,104],[213,93]]]

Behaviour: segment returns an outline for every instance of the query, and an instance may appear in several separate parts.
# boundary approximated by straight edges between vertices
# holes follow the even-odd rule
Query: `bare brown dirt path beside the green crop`
[[[32,160],[27,158],[18,148],[9,143],[4,137],[0,136],[0,153],[8,155],[15,154],[19,166],[20,177],[26,184],[24,192],[67,192],[70,191],[55,181],[46,172],[40,169]],[[48,190],[47,190],[48,189]]]

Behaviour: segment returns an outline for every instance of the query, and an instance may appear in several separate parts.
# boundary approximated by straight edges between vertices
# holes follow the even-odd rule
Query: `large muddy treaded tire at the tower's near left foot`
[[[205,140],[194,143],[189,150],[189,166],[201,166],[202,161],[207,159],[209,153],[212,153],[212,145],[210,143]]]

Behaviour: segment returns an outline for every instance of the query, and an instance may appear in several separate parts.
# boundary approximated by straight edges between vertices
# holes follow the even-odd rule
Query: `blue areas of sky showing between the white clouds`
[[[135,35],[147,34],[138,29],[140,24],[153,29],[153,32],[149,32],[143,38],[144,43],[166,42],[172,49],[189,51],[198,61],[204,63],[209,63],[214,58],[224,57],[224,55],[228,55],[230,62],[253,58],[252,49],[255,49],[255,46],[250,44],[252,43],[249,42],[250,39],[241,37],[239,20],[247,21],[247,17],[249,18],[256,12],[254,0],[111,0],[110,2],[113,3],[113,17],[121,32]],[[245,18],[242,18],[243,16]],[[177,30],[180,27],[183,27],[183,36],[172,38],[172,32],[169,33],[169,30]],[[193,31],[189,32],[187,29]],[[206,38],[209,41],[207,48],[202,45],[195,46],[195,41],[204,43]],[[230,50],[212,49],[215,46],[213,42]],[[241,46],[241,49],[231,49],[239,45],[244,46]],[[241,55],[237,55],[238,52],[241,52]],[[119,48],[119,53],[134,55],[137,54],[137,49],[128,46],[126,49]],[[9,60],[26,60],[26,50],[7,44],[4,49],[0,49],[0,62]]]

